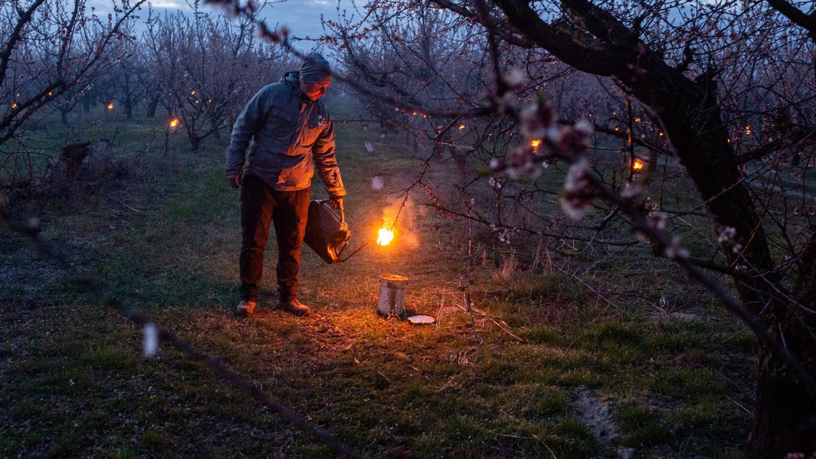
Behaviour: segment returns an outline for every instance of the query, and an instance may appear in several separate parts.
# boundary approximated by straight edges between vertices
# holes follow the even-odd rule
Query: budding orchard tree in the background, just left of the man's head
[[[230,20],[200,11],[197,2],[193,7],[190,15],[151,12],[144,42],[162,104],[197,150],[232,127],[246,100],[282,77],[289,61],[280,48],[259,42],[255,16]]]

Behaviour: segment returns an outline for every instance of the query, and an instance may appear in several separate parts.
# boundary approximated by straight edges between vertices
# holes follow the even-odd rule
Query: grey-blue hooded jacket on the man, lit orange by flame
[[[312,185],[314,166],[332,197],[346,194],[335,158],[335,127],[320,100],[299,88],[299,72],[264,86],[246,104],[227,147],[227,175],[251,173],[282,191]]]

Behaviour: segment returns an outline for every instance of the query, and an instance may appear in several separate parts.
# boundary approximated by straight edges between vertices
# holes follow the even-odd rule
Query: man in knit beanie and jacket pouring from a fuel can
[[[254,313],[258,305],[270,221],[277,238],[277,307],[311,314],[298,301],[298,271],[312,163],[332,205],[341,211],[346,194],[335,159],[334,125],[319,100],[330,84],[329,63],[313,52],[299,72],[287,73],[252,96],[233,127],[226,172],[228,184],[241,187],[241,302],[235,309],[239,316]]]

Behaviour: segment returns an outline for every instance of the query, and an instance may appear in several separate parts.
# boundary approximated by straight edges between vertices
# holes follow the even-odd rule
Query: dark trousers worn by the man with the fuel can
[[[241,187],[242,247],[239,260],[242,300],[258,299],[264,273],[269,222],[277,238],[277,298],[298,296],[300,246],[304,242],[311,189],[279,191],[256,176],[246,175]]]

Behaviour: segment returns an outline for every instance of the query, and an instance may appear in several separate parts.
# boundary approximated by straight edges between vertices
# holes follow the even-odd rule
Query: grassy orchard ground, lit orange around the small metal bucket
[[[121,123],[113,155],[128,158],[144,145],[152,123]],[[337,131],[356,246],[388,203],[370,190],[370,176],[399,189],[417,162],[394,146],[401,135]],[[58,139],[33,136],[43,145]],[[27,211],[107,292],[359,451],[562,458],[612,457],[623,446],[639,457],[741,457],[749,417],[737,403],[751,403],[754,341],[672,279],[671,266],[641,270],[643,258],[631,252],[600,261],[600,274],[583,279],[614,307],[558,270],[530,269],[536,241],[525,245],[520,236],[510,262],[477,233],[483,256],[472,291],[483,314],[473,329],[459,307],[466,229],[415,206],[419,244],[368,247],[344,265],[325,265],[304,248],[301,300],[317,314],[299,319],[268,308],[268,269],[259,313],[237,320],[238,195],[224,184],[224,144],[212,140],[194,155],[185,148],[176,138],[171,154],[154,151],[136,178],[104,183],[81,203],[42,199]],[[433,180],[452,180],[441,164],[434,169]],[[317,183],[313,195],[324,194]],[[140,330],[91,301],[24,240],[2,238],[11,243],[0,245],[0,455],[326,457],[325,446],[201,364],[166,346],[154,359],[140,357]],[[267,266],[275,257],[270,243]],[[441,323],[377,317],[376,279],[386,272],[406,274],[410,304]],[[704,320],[655,320],[646,312],[660,295],[690,297]],[[619,437],[592,434],[574,403],[582,387],[610,406]]]

